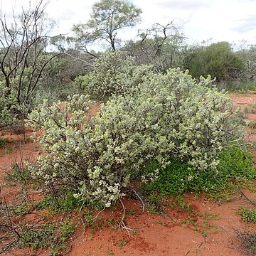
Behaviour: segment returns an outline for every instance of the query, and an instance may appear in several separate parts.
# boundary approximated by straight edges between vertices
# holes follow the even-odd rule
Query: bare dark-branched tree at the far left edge
[[[11,99],[1,105],[3,118],[6,116],[3,112],[9,112],[14,119],[22,119],[31,109],[43,69],[55,57],[46,53],[48,33],[54,23],[46,16],[45,9],[46,4],[41,0],[35,7],[14,14],[11,22],[0,16],[0,97]]]

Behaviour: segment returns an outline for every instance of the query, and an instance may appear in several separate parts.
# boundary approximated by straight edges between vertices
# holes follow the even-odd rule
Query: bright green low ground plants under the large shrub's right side
[[[164,169],[161,169],[156,161],[152,161],[146,169],[150,173],[154,169],[159,170],[159,176],[155,181],[142,185],[142,190],[147,193],[158,192],[174,196],[188,192],[208,192],[216,198],[223,190],[226,193],[233,191],[236,182],[248,183],[256,178],[252,155],[246,149],[231,146],[220,153],[218,161],[217,171],[208,169],[203,172],[175,159]],[[182,202],[181,204],[183,205]]]

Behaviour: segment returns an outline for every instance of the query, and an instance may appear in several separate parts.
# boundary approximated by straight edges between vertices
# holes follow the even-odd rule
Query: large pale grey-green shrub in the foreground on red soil
[[[161,167],[178,159],[198,171],[215,169],[220,151],[241,131],[228,95],[211,83],[196,83],[180,70],[151,74],[136,94],[113,95],[95,117],[86,114],[87,96],[70,97],[65,106],[44,102],[28,115],[28,125],[43,129],[38,139],[47,152],[30,167],[32,174],[109,207],[151,160]],[[142,176],[151,181],[157,171]]]

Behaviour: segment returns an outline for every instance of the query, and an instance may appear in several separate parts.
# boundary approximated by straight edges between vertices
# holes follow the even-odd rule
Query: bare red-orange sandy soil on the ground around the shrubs
[[[242,110],[249,103],[256,104],[256,95],[232,94],[230,97],[234,100],[235,105],[240,106]],[[90,114],[95,114],[98,110],[99,106],[96,106]],[[256,121],[255,114],[250,114],[248,118]],[[31,135],[32,132],[29,129],[26,130],[26,138]],[[18,162],[21,158],[23,160],[35,159],[41,147],[31,140],[26,143],[23,142],[21,135],[8,133],[5,134],[5,137],[11,139],[12,143],[9,144],[9,150],[1,149],[0,151],[0,199],[4,198],[9,204],[16,205],[19,200],[20,188],[7,185],[4,176],[6,176],[6,172],[10,171],[15,161]],[[247,139],[250,142],[256,142],[256,133],[250,134]],[[248,190],[243,190],[243,193],[249,198],[256,198],[256,193]],[[38,193],[33,192],[32,198],[34,201],[41,198],[40,191]],[[114,210],[107,209],[99,213],[98,218],[102,218],[102,220],[98,223],[102,221],[102,225],[96,225],[95,230],[80,223],[75,235],[67,245],[68,255],[242,255],[242,252],[238,250],[240,242],[236,238],[236,230],[256,232],[256,225],[243,222],[237,213],[240,206],[248,205],[244,196],[238,193],[230,202],[213,203],[206,201],[205,198],[195,198],[193,194],[190,194],[185,197],[185,201],[191,204],[200,224],[193,226],[191,223],[183,223],[182,220],[185,220],[189,215],[186,210],[166,206],[163,213],[152,214],[147,210],[142,211],[142,204],[139,200],[124,198],[124,206],[128,210],[125,215],[125,225],[136,232],[118,227],[122,218],[122,206],[119,204]],[[129,214],[131,209],[134,210],[134,215]],[[23,218],[32,221],[37,218],[35,216],[38,216],[34,214],[36,213],[23,216]],[[214,216],[203,218],[205,215],[210,216],[209,214]],[[110,221],[110,219],[115,220],[117,225],[110,225],[110,223],[107,225],[107,221],[103,221]],[[198,230],[194,230],[194,228]],[[3,255],[31,254],[31,250],[12,250]],[[37,255],[50,254],[48,250],[42,250]]]

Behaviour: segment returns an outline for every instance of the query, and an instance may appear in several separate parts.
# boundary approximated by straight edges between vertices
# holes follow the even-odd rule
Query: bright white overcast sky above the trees
[[[10,14],[15,6],[29,0],[0,0],[1,11]],[[35,3],[36,0],[31,0]],[[85,23],[96,0],[50,0],[48,16],[58,23],[56,34],[68,33],[74,23]],[[256,0],[134,0],[142,9],[142,23],[125,31],[125,39],[137,35],[138,28],[153,23],[175,21],[189,41],[247,41],[256,44]]]

